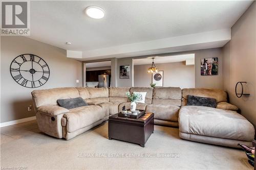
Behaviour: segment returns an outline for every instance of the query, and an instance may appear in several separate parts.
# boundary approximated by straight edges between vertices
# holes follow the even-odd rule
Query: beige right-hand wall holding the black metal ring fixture
[[[256,3],[254,2],[231,28],[231,40],[224,46],[224,90],[230,102],[237,105],[251,123],[256,125]],[[235,86],[246,81],[250,96],[237,98]]]

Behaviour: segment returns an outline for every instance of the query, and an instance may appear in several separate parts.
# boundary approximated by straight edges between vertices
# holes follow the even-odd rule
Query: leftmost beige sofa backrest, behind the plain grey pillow
[[[77,89],[74,87],[33,90],[31,94],[36,105],[36,108],[43,105],[57,105],[58,99],[69,99],[79,97],[79,93]]]

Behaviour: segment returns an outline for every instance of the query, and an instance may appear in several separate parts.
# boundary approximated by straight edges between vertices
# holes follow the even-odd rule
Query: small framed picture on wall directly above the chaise
[[[201,59],[201,76],[218,75],[218,57]]]

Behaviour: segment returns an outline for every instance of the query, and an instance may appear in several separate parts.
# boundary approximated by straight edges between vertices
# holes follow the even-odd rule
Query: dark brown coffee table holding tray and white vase
[[[154,113],[145,113],[138,119],[120,117],[118,113],[109,117],[109,139],[138,143],[145,147],[154,132]]]

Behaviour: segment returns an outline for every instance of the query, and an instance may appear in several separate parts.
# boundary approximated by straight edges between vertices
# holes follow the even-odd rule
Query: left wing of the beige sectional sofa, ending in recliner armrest
[[[102,91],[102,89],[100,90]],[[68,140],[88,130],[86,127],[92,128],[92,125],[99,125],[108,119],[109,116],[104,116],[103,109],[94,105],[95,103],[70,110],[57,105],[58,99],[78,98],[80,96],[91,102],[90,93],[86,88],[65,87],[32,91],[39,130],[48,135]],[[104,98],[104,96],[102,97],[102,94],[92,96],[96,102],[102,101],[100,98]]]

